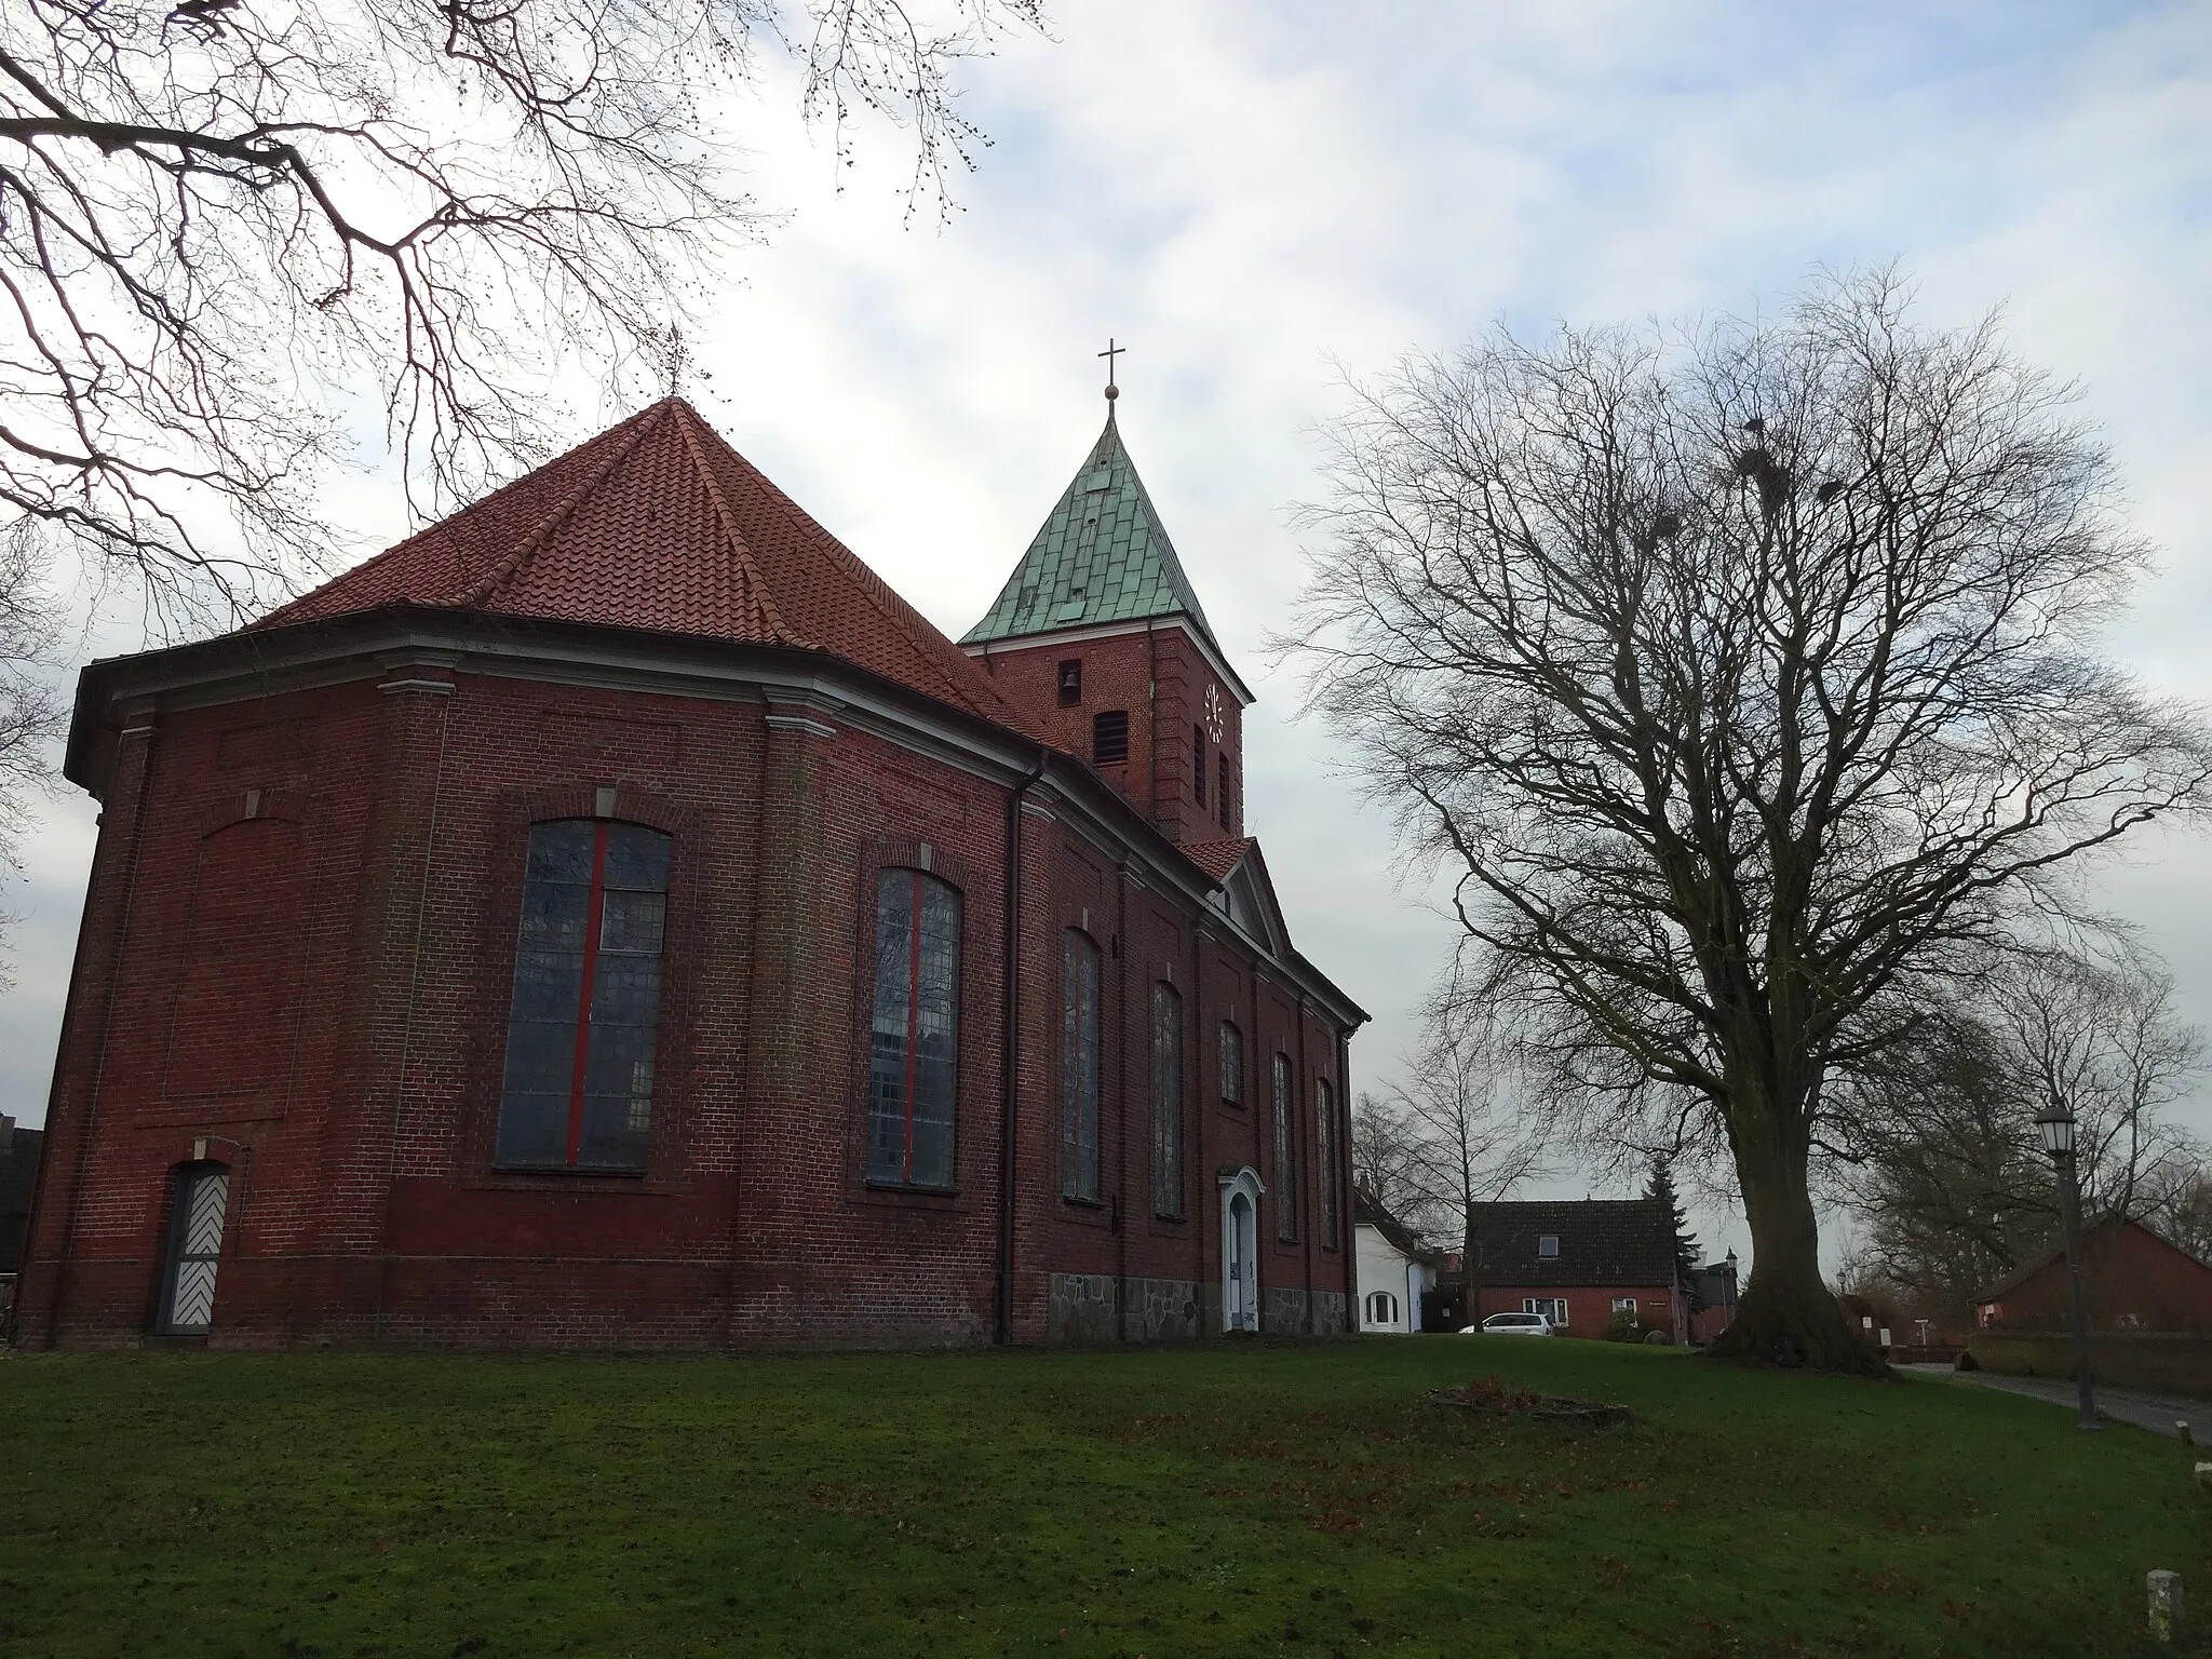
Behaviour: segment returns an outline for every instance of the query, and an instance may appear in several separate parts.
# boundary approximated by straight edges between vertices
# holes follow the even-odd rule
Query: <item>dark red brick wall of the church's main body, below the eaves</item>
[[[215,1345],[989,1340],[1002,785],[834,708],[436,664],[124,726],[20,1340],[144,1340],[173,1170],[195,1159],[232,1177]],[[1015,1338],[1051,1336],[1053,1274],[1126,1287],[1115,1305],[1139,1314],[1128,1336],[1172,1334],[1159,1285],[1197,1285],[1219,1325],[1214,1179],[1252,1164],[1274,1186],[1276,1048],[1296,1066],[1301,1230],[1281,1243],[1263,1214],[1263,1283],[1340,1307],[1345,1250],[1316,1237],[1312,1104],[1314,1079],[1329,1077],[1340,1133],[1338,1033],[1217,922],[1208,936],[1051,801],[1033,805]],[[500,1170],[529,827],[593,814],[672,836],[646,1170]],[[951,1192],[865,1179],[874,891],[887,865],[927,865],[962,900]],[[1060,938],[1086,911],[1108,947],[1110,1190],[1075,1212],[1057,1181]],[[1155,978],[1186,1002],[1181,1219],[1150,1203]],[[1243,1106],[1219,1099],[1225,1011],[1245,1029]]]

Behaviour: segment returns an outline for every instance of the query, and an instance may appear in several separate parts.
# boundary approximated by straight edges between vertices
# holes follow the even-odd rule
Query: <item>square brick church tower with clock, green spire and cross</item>
[[[960,648],[1177,843],[1243,836],[1243,710],[1115,425]]]

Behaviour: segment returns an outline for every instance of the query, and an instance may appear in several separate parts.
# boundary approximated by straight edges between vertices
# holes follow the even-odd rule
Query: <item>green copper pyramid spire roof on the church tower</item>
[[[1108,392],[1108,398],[1113,394]],[[969,628],[962,646],[995,644],[1064,628],[1099,628],[1148,617],[1190,617],[1208,646],[1221,644],[1199,611],[1159,526],[1152,498],[1130,465],[1128,449],[1106,411],[1106,431],[1091,447],[1082,471],[1013,566],[998,602]]]

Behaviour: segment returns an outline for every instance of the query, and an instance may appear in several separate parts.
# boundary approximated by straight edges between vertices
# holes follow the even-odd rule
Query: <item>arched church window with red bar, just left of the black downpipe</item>
[[[869,1181],[953,1183],[958,1062],[960,894],[920,869],[885,869],[867,1055]]]

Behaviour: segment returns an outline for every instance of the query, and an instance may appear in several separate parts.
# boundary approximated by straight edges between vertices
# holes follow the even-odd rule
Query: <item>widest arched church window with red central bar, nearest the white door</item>
[[[531,827],[498,1164],[646,1168],[666,920],[659,830],[606,818]]]

